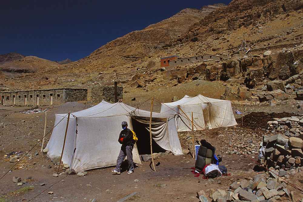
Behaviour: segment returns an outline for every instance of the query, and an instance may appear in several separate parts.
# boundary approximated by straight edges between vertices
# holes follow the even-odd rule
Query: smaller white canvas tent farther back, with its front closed
[[[177,114],[175,124],[178,131],[191,131],[192,112],[194,130],[237,125],[229,100],[199,94],[195,97],[185,95],[181,100],[161,104],[162,114]]]

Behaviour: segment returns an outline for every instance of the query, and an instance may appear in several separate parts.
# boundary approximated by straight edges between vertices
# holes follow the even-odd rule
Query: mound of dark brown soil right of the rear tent
[[[268,127],[267,122],[273,121],[273,118],[285,118],[296,116],[293,113],[281,112],[281,113],[270,113],[266,114],[265,112],[251,112],[243,117],[243,126],[242,118],[237,118],[236,121],[241,127],[249,129],[265,129]]]

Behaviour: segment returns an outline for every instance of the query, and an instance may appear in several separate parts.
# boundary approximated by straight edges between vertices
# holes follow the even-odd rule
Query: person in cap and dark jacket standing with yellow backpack
[[[120,153],[117,159],[117,166],[112,172],[114,174],[120,174],[121,164],[127,156],[128,161],[128,172],[127,174],[132,174],[134,172],[134,161],[132,159],[132,150],[134,148],[133,133],[127,128],[127,122],[122,122],[123,130],[120,132],[118,142],[122,144]]]

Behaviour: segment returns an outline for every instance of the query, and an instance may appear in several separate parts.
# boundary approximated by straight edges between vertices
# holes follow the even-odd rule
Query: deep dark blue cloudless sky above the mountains
[[[0,54],[77,61],[118,37],[185,8],[231,0],[6,0],[0,3]]]

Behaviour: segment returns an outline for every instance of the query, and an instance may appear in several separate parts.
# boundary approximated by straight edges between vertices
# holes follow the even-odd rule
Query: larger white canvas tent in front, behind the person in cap
[[[164,150],[175,155],[182,154],[177,129],[171,114],[152,114],[152,138]],[[148,117],[148,124],[146,121]],[[122,121],[128,122],[128,128],[138,136],[148,136],[149,111],[139,110],[124,103],[110,104],[102,101],[92,108],[70,114],[68,131],[62,161],[76,172],[93,168],[116,165],[121,144],[118,136],[122,130]],[[68,114],[55,115],[55,127],[46,148],[48,157],[61,156]],[[136,122],[134,125],[132,122]],[[137,125],[141,129],[136,131]],[[150,144],[144,145],[150,148]],[[133,150],[133,160],[141,164],[138,149]]]

